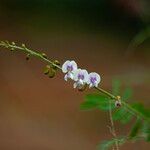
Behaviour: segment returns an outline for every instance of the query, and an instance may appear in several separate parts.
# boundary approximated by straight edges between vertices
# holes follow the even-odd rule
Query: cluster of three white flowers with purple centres
[[[73,60],[67,60],[62,65],[62,72],[65,73],[65,81],[68,79],[75,81],[73,87],[78,89],[82,89],[86,85],[89,85],[89,88],[98,87],[101,81],[99,74],[96,72],[88,73],[85,69],[79,69],[76,62]]]

